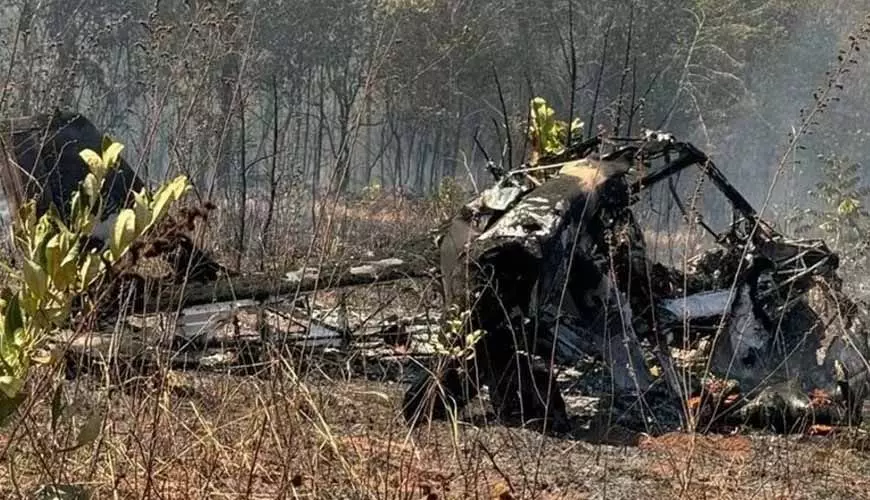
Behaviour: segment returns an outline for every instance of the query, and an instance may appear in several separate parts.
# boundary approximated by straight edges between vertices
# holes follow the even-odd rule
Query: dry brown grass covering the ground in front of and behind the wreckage
[[[337,204],[332,239],[293,243],[294,231],[282,230],[275,248],[305,254],[310,244],[330,258],[390,248],[432,226],[437,210],[426,203]],[[218,233],[230,224],[212,222]],[[220,245],[214,250],[226,252]],[[255,253],[246,265],[256,265]],[[282,357],[251,375],[164,369],[126,388],[79,377],[63,382],[67,410],[56,426],[52,388],[61,377],[34,376],[32,404],[0,433],[0,497],[67,483],[93,498],[143,499],[870,498],[870,461],[855,436],[647,436],[578,422],[572,435],[547,437],[486,423],[477,402],[461,422],[409,432],[395,376],[372,380],[341,360],[306,361],[304,373]],[[98,408],[106,409],[99,439],[60,451]]]

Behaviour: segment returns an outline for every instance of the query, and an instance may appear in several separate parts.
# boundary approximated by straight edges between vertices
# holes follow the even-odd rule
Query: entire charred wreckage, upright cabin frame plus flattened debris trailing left
[[[56,189],[22,190],[27,186],[17,178],[4,179],[14,200],[65,202],[81,165],[25,154],[38,127],[75,135],[72,125],[79,123],[84,132],[77,143],[88,146],[92,125],[64,116],[5,132],[17,148],[6,159],[33,176],[46,162],[61,166],[57,178],[42,180]],[[415,376],[402,403],[412,424],[444,417],[483,389],[503,421],[570,429],[572,410],[562,394],[567,382],[554,374],[598,377],[599,370],[618,397],[692,410],[684,427],[788,432],[860,422],[870,383],[868,313],[843,291],[837,255],[824,241],[776,231],[692,144],[652,131],[596,137],[531,167],[491,167],[495,184],[441,228],[434,246],[415,242],[395,255],[281,277],[224,280],[213,273],[181,294],[163,290],[173,299],[156,303],[185,308],[180,315],[152,313],[162,318],[157,334],[131,326],[124,342],[117,332],[57,340],[72,346],[68,359],[79,368],[91,359],[147,371],[160,364],[155,360],[169,359],[176,369],[250,372],[288,346],[362,350],[398,372],[423,364],[429,370]],[[733,216],[724,231],[714,231],[691,217],[671,189],[686,224],[717,243],[676,269],[650,258],[634,210],[650,188],[670,186],[689,168],[724,195]],[[141,185],[135,176],[128,180],[122,191]],[[104,193],[118,206],[122,194]],[[396,310],[389,320],[367,323],[349,321],[346,311],[297,303],[331,287],[433,278],[441,285],[439,314]],[[112,352],[93,355],[109,346]],[[427,356],[430,361],[420,359]]]

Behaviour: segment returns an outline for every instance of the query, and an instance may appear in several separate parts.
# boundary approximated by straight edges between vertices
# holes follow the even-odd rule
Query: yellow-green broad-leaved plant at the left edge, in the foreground
[[[46,340],[66,324],[76,297],[98,286],[133,243],[166,216],[173,203],[190,188],[179,176],[153,195],[134,194],[132,208],[121,210],[109,248],[83,250],[83,242],[103,220],[101,191],[106,175],[117,167],[123,145],[106,137],[102,152],[80,153],[88,173],[73,194],[69,223],[54,207],[40,217],[33,201],[25,203],[13,222],[13,240],[20,266],[2,264],[9,285],[0,288],[0,423],[23,400],[21,389],[34,363],[50,363],[40,356]]]

